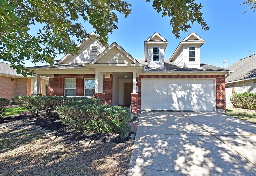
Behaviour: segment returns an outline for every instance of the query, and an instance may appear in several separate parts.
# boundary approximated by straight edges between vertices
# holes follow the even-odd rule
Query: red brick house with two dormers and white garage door
[[[29,68],[35,80],[49,77],[49,95],[101,98],[102,103],[131,105],[136,110],[223,112],[226,108],[225,74],[230,71],[201,63],[205,40],[194,32],[169,59],[164,59],[168,41],[157,32],[144,41],[145,59],[134,59],[116,42],[101,45],[94,32],[91,36],[78,45],[78,56],[68,54],[52,67]]]

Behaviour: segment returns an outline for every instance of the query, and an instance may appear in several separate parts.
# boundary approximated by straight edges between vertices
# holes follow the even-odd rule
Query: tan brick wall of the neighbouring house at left
[[[27,80],[27,78],[0,76],[0,97],[10,100],[15,96],[27,95]]]

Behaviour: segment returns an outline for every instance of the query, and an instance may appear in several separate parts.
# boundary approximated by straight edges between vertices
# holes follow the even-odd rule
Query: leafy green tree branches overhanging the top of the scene
[[[150,2],[150,0],[146,0]],[[118,29],[116,13],[126,18],[131,14],[131,4],[123,0],[9,0],[0,1],[0,59],[8,61],[17,73],[32,75],[25,68],[25,60],[32,63],[55,63],[57,54],[78,54],[78,42],[89,37],[79,20],[89,21],[106,44],[108,34]],[[170,17],[172,33],[179,38],[180,31],[187,32],[195,21],[203,30],[209,30],[201,13],[201,4],[194,0],[153,0],[153,8]],[[36,23],[44,25],[37,35],[29,28]]]

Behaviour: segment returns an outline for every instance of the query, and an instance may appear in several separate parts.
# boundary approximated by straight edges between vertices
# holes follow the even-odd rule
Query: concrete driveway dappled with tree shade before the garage
[[[129,174],[256,175],[256,125],[215,112],[142,112]]]

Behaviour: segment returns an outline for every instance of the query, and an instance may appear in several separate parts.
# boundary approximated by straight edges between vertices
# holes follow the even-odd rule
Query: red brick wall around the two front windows
[[[64,96],[65,78],[76,78],[76,96],[83,96],[83,78],[95,78],[95,74],[55,74],[49,78],[49,95]]]

